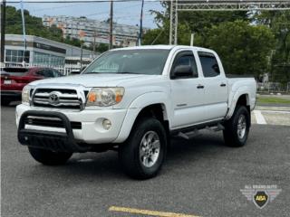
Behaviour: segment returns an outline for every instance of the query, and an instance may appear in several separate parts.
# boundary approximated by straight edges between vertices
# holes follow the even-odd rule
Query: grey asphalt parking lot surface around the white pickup
[[[14,106],[2,107],[2,216],[289,216],[290,112],[253,114],[247,146],[224,146],[221,132],[174,139],[160,175],[135,181],[112,151],[36,163],[18,144]],[[282,192],[258,209],[240,192],[247,184]]]

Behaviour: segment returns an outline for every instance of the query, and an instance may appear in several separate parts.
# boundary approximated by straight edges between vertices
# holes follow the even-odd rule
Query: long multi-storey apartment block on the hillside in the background
[[[109,43],[110,23],[73,16],[43,16],[43,25],[63,30],[63,38],[70,37],[82,40],[86,45]],[[147,29],[143,29],[146,32]],[[113,24],[113,45],[128,47],[138,42],[140,27],[125,24]]]

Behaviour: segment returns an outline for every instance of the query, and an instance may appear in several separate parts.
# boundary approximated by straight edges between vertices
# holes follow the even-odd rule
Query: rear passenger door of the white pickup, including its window
[[[224,118],[227,113],[227,78],[218,58],[211,52],[198,52],[205,82],[204,104],[208,120]]]

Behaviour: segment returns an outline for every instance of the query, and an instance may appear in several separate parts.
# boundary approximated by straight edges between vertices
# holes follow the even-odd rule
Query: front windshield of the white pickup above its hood
[[[169,50],[140,49],[104,53],[82,72],[160,75]]]

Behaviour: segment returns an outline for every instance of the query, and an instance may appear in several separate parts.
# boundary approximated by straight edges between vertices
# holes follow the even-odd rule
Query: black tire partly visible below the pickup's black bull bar
[[[69,152],[53,152],[42,148],[28,147],[29,153],[34,160],[43,165],[64,165],[73,155]]]

